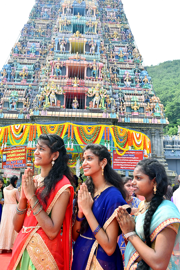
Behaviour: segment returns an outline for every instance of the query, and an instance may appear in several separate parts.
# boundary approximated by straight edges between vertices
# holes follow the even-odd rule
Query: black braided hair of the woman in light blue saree
[[[164,166],[156,159],[143,159],[142,161],[138,162],[136,167],[139,167],[142,173],[149,176],[149,180],[153,180],[155,178],[155,182],[157,183],[156,194],[153,196],[150,202],[150,207],[145,214],[143,225],[146,244],[151,247],[151,220],[158,206],[163,201],[164,194],[167,192],[167,174]],[[149,270],[149,265],[147,265],[147,263],[142,259],[137,265],[137,270]]]

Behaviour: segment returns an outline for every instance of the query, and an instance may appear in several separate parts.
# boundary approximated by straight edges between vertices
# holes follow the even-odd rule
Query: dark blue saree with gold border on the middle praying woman
[[[121,192],[116,187],[108,187],[95,200],[92,212],[104,231],[115,218],[117,213],[116,208],[119,205],[124,206],[128,212],[131,212],[131,208],[127,205]],[[120,233],[121,230],[119,229]],[[108,256],[100,244],[98,244],[90,226],[88,226],[87,231],[82,236],[79,235],[74,244],[71,270],[77,269],[123,270],[122,255],[118,244],[116,245],[115,252],[111,256]]]

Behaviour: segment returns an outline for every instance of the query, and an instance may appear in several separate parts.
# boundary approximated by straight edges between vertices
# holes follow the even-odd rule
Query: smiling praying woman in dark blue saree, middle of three
[[[111,167],[107,148],[88,144],[83,149],[84,175],[90,176],[78,191],[76,220],[72,235],[72,270],[123,270],[117,244],[119,230],[117,208],[127,205],[122,179]]]

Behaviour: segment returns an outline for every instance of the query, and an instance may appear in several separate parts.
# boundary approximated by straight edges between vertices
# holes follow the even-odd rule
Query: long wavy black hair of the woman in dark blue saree
[[[111,155],[110,155],[110,152],[108,152],[108,149],[105,146],[97,144],[97,143],[88,143],[83,148],[83,153],[87,150],[90,150],[94,155],[96,155],[99,159],[99,162],[103,161],[104,158],[107,159],[107,164],[104,167],[104,178],[107,181],[107,183],[118,188],[123,198],[126,199],[127,191],[124,187],[121,176],[118,173],[116,173],[116,171],[113,170],[113,168],[111,167]],[[91,192],[91,196],[93,198],[94,193],[95,193],[95,186],[92,181],[92,178],[88,177],[88,179],[85,181],[85,184],[87,185],[88,191]],[[76,207],[77,207],[77,210],[76,210],[76,213],[77,213],[78,212],[77,202],[76,202]],[[88,228],[88,222],[85,218],[81,223],[81,229],[79,232],[84,233],[87,230],[87,228]]]

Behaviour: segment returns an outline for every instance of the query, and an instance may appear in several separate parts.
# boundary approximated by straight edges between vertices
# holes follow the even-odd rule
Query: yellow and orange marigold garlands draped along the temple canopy
[[[22,131],[23,128],[23,132]],[[68,131],[67,131],[68,130]],[[40,134],[58,134],[61,138],[67,134],[67,140],[71,147],[68,150],[73,151],[74,139],[77,143],[84,147],[88,143],[100,143],[104,134],[104,144],[110,150],[110,134],[116,151],[119,155],[124,155],[126,151],[131,149],[144,150],[144,156],[147,157],[151,153],[151,143],[149,138],[141,133],[126,128],[122,128],[115,125],[76,125],[73,123],[62,123],[52,125],[40,125],[40,124],[20,124],[10,125],[0,128],[0,141],[4,146],[8,139],[11,145],[22,145],[29,140],[29,142],[36,140],[36,136]],[[37,135],[36,135],[37,134]],[[75,137],[74,137],[75,136]],[[32,149],[32,148],[31,148]],[[119,153],[118,150],[122,150],[123,153]]]

